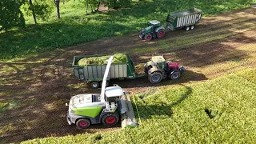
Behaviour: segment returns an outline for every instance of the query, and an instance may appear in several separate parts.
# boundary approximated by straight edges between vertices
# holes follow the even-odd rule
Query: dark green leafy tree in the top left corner
[[[25,0],[1,0],[0,1],[0,30],[9,30],[14,26],[25,26],[20,7]]]

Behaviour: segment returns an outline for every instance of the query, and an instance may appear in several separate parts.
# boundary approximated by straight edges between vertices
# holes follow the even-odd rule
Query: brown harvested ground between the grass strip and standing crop
[[[99,92],[79,84],[74,78],[71,66],[74,55],[125,52],[134,60],[137,73],[142,74],[144,62],[152,55],[164,54],[167,60],[180,62],[188,70],[178,81],[165,80],[157,86],[150,84],[147,78],[112,81],[134,93],[150,87],[201,82],[244,67],[255,67],[255,14],[256,7],[251,7],[203,18],[195,30],[168,32],[164,38],[152,42],[144,42],[138,34],[130,34],[55,50],[34,58],[0,62],[0,101],[10,102],[8,107],[11,107],[5,112],[0,111],[0,142],[120,129],[120,126],[95,125],[89,130],[77,130],[67,125],[65,103],[70,97]]]

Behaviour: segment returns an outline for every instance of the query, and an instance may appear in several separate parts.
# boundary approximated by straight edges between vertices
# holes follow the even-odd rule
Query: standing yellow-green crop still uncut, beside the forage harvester
[[[157,92],[154,92],[157,91]],[[254,143],[256,70],[135,94],[141,126],[22,143]]]

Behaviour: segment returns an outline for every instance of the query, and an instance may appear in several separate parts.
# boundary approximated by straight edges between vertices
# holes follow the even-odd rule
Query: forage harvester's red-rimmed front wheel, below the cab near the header
[[[119,121],[118,113],[108,113],[102,117],[102,123],[105,126],[114,126],[118,123],[118,121]]]

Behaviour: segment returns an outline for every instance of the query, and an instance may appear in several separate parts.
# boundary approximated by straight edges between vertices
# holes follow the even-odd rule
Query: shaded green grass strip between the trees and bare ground
[[[98,38],[139,32],[146,26],[147,21],[158,19],[164,22],[168,13],[187,10],[191,6],[201,9],[204,16],[207,16],[241,9],[250,6],[254,1],[144,0],[134,1],[130,8],[86,15],[85,6],[71,0],[60,6],[61,20],[57,20],[53,13],[47,21],[39,22],[35,26],[32,17],[26,17],[25,29],[0,33],[0,59],[23,57],[94,41]]]

